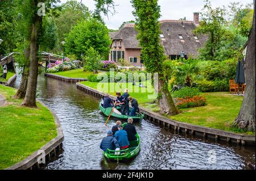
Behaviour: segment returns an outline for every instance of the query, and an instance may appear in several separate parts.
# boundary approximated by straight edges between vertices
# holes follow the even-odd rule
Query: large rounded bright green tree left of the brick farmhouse
[[[65,52],[81,57],[87,55],[90,47],[97,50],[101,57],[109,53],[110,37],[108,28],[97,19],[82,20],[69,32]]]

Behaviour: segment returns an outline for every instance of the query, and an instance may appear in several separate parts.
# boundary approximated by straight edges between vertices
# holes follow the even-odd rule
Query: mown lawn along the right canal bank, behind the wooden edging
[[[97,86],[96,82],[81,82],[82,84],[92,87],[103,92],[108,92],[109,94],[115,95],[114,91],[110,91],[110,87],[116,87],[117,91],[122,90],[119,88],[117,83],[109,83],[105,85],[108,89],[102,89],[102,86]],[[130,83],[122,83],[119,85],[134,87],[129,85]],[[155,99],[148,99],[148,95],[152,93],[143,92],[143,89],[139,87],[139,92],[130,91],[130,95],[138,100],[139,106],[146,108],[147,110],[159,113],[159,105],[154,102]],[[235,133],[245,133],[245,134],[255,134],[254,132],[242,132],[240,129],[232,128],[230,125],[233,120],[237,117],[238,112],[242,104],[243,96],[236,96],[229,94],[229,92],[207,92],[202,93],[207,99],[207,105],[195,108],[185,108],[181,109],[181,113],[175,116],[168,116],[172,120],[181,121],[184,123],[191,123],[195,125],[201,125],[203,127],[216,128],[224,131],[235,132]]]

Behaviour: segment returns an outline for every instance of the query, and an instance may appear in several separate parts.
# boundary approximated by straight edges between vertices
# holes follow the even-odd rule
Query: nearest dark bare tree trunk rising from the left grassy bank
[[[36,107],[36,86],[38,83],[38,31],[42,27],[42,17],[35,15],[30,39],[30,69],[27,82],[27,92],[22,106]]]

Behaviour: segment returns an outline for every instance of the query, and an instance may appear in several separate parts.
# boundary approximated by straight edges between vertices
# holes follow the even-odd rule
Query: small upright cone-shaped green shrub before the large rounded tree
[[[84,62],[84,71],[93,71],[93,73],[98,73],[98,68],[101,62],[101,56],[98,51],[93,47],[90,47],[87,52]]]

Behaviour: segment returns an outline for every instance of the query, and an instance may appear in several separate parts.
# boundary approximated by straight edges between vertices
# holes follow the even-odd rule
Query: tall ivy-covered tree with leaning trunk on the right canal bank
[[[172,100],[163,73],[164,49],[160,44],[160,6],[158,0],[132,0],[138,30],[138,40],[142,47],[142,59],[146,70],[159,73],[159,105],[160,112],[175,115],[178,110]]]

